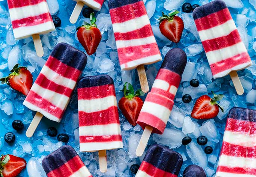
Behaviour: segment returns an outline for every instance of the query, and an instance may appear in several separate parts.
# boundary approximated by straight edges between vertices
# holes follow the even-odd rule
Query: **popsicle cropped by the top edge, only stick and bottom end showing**
[[[77,4],[75,5],[75,8],[70,16],[70,22],[76,23],[77,19],[83,9],[83,6],[86,5],[88,7],[91,7],[94,10],[101,10],[101,6],[104,3],[104,0],[73,0],[77,1]]]

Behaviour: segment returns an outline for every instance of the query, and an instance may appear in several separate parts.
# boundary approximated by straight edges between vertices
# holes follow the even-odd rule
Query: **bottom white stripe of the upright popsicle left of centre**
[[[111,142],[89,142],[80,143],[81,152],[95,152],[103,149],[118,149],[123,148],[123,142],[121,141],[111,141]],[[92,149],[94,149],[92,151]]]

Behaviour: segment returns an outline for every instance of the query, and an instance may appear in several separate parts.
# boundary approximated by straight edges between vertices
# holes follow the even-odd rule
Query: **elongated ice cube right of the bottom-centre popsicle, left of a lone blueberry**
[[[201,146],[194,142],[194,140],[186,145],[186,151],[188,153],[188,157],[191,158],[193,164],[199,165],[202,168],[207,167],[207,156]]]

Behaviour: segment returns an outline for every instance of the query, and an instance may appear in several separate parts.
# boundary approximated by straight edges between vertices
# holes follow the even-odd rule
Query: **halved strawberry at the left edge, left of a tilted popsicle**
[[[23,95],[28,95],[33,83],[33,76],[27,67],[19,67],[16,64],[11,73],[6,78],[1,78],[1,83],[7,83],[11,88],[21,92]]]

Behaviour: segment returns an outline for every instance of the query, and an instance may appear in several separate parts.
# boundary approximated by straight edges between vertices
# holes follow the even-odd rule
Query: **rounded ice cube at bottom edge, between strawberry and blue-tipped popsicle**
[[[35,157],[29,159],[26,168],[29,177],[47,177],[42,165]]]

